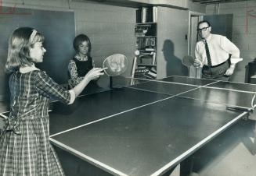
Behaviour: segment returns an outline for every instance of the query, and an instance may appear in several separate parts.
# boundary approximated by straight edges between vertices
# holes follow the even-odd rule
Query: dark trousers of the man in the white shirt
[[[222,64],[208,67],[204,65],[202,69],[202,77],[204,79],[218,79],[229,81],[229,76],[225,76],[225,71],[229,69],[229,62],[223,62]]]

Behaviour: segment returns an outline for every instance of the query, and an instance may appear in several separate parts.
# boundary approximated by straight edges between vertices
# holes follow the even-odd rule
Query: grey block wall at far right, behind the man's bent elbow
[[[229,2],[218,5],[207,5],[207,14],[233,14],[232,40],[240,48],[243,62],[236,65],[232,81],[244,82],[245,66],[256,58],[256,1]]]

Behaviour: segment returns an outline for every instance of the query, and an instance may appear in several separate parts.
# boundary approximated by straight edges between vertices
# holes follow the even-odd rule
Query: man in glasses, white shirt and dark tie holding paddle
[[[197,42],[193,65],[203,67],[203,78],[229,80],[236,63],[242,60],[240,50],[225,36],[211,33],[211,24],[207,21],[198,23],[197,30],[202,40]]]

